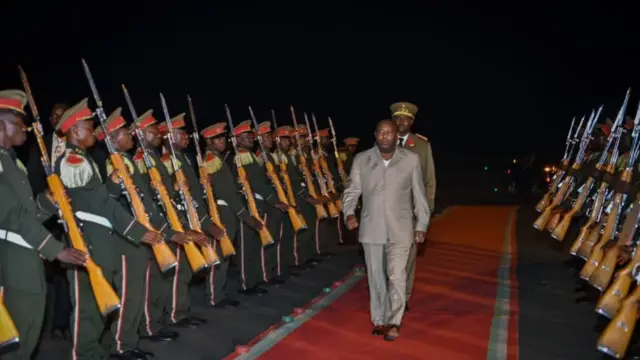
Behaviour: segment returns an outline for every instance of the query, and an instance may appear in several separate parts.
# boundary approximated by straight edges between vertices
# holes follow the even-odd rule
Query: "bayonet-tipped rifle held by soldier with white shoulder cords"
[[[102,100],[100,99],[100,95],[98,94],[98,88],[96,88],[96,84],[93,81],[93,76],[91,76],[91,71],[89,70],[89,66],[82,59],[82,65],[84,67],[84,73],[87,77],[87,81],[89,82],[89,87],[91,88],[91,92],[93,93],[93,99],[96,101],[96,115],[98,121],[100,122],[100,126],[102,130],[104,130],[104,141],[107,144],[107,149],[109,150],[109,160],[111,160],[111,164],[115,171],[118,172],[118,177],[120,178],[120,186],[122,187],[122,192],[127,197],[129,205],[131,206],[131,212],[135,216],[135,218],[142,224],[147,230],[159,232],[157,229],[153,227],[151,221],[149,220],[149,214],[147,210],[144,208],[144,203],[140,198],[140,194],[138,193],[138,189],[136,189],[133,184],[133,179],[131,179],[131,174],[129,174],[129,169],[127,165],[125,165],[124,160],[122,159],[122,155],[118,153],[115,148],[115,145],[112,142],[111,134],[107,129],[107,115],[102,108]],[[153,254],[156,257],[156,261],[158,262],[158,266],[160,267],[160,271],[166,272],[176,265],[178,265],[178,259],[171,252],[169,246],[164,241],[152,245]]]

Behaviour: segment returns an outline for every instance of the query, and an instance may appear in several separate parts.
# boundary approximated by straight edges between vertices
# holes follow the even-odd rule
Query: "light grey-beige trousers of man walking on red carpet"
[[[362,243],[367,263],[371,322],[398,325],[406,302],[407,261],[412,244]]]

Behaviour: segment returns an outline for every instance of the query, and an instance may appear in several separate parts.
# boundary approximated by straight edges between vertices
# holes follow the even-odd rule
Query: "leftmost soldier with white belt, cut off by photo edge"
[[[42,226],[49,215],[39,212],[27,170],[13,150],[27,138],[25,103],[22,91],[0,91],[0,278],[5,306],[20,334],[19,349],[2,358],[16,360],[31,358],[44,322],[47,287],[40,257],[78,266],[87,260]]]

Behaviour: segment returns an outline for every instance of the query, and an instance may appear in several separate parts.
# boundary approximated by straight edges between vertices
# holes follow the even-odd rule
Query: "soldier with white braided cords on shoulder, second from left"
[[[154,245],[162,241],[158,232],[148,231],[110,196],[107,187],[119,187],[119,176],[113,172],[107,183],[103,183],[98,165],[87,155],[87,149],[95,143],[93,113],[82,100],[65,111],[56,128],[66,136],[66,150],[56,160],[55,171],[60,176],[78,220],[92,259],[102,267],[108,281],[116,285],[122,308],[117,324],[131,323],[131,318],[140,316],[127,310],[126,302],[131,297],[143,296],[144,280],[135,281],[127,273],[128,256],[139,259],[140,243]],[[111,191],[113,192],[113,190]],[[144,254],[144,251],[142,251]],[[146,255],[146,254],[145,254]],[[144,256],[142,256],[144,259]],[[133,260],[135,261],[135,260]],[[95,305],[95,296],[86,271],[80,268],[70,273],[74,359],[102,359],[107,354],[100,345],[104,330],[104,319]],[[137,287],[134,287],[137,286]],[[114,331],[115,330],[115,331]],[[148,352],[137,348],[137,326],[127,328],[115,326],[112,332],[115,342],[113,355],[123,359],[146,359]]]

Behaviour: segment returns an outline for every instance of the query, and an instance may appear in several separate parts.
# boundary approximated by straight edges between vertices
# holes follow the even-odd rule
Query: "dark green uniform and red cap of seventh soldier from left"
[[[253,131],[251,128],[251,121],[246,120],[238,124],[233,135],[238,136],[242,133]],[[268,214],[269,207],[275,205],[276,196],[273,188],[269,184],[269,180],[262,168],[262,164],[256,157],[256,155],[246,149],[238,149],[239,153],[234,154],[233,158],[230,157],[228,161],[238,161],[245,172],[247,173],[247,180],[253,191],[253,197],[256,202],[256,207],[260,213],[260,217],[264,219],[265,214]],[[232,166],[235,178],[238,177],[237,166],[235,163]],[[237,181],[236,181],[237,183]],[[269,222],[265,226],[269,227]],[[271,233],[274,242],[277,241],[276,234]],[[277,245],[271,244],[267,246],[276,247]],[[265,253],[263,251],[262,243],[260,242],[260,235],[253,228],[248,225],[242,225],[240,230],[240,254],[238,256],[240,264],[240,278],[242,288],[249,290],[255,288],[261,282],[269,282],[268,271],[265,263]]]

